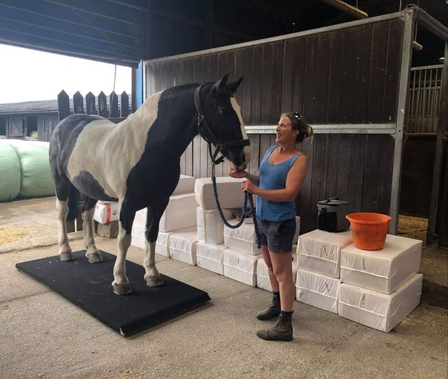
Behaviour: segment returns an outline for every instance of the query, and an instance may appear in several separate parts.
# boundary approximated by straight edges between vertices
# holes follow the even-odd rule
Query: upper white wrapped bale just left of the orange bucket
[[[352,231],[330,233],[313,230],[298,238],[298,267],[319,274],[340,277],[340,251],[352,243]]]

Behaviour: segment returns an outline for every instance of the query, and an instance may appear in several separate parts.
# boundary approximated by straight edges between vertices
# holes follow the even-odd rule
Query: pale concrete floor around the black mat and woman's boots
[[[19,209],[21,205],[17,203],[12,208]],[[7,208],[0,206],[0,226],[9,225]],[[9,220],[19,225],[18,219]],[[100,249],[116,252],[116,240],[97,237],[96,241]],[[11,241],[8,243],[11,245]],[[18,262],[54,256],[57,246],[32,247],[32,238],[28,248],[23,241],[22,245],[12,243],[20,251],[9,249],[0,254],[3,279],[0,378],[447,378],[448,375],[446,309],[420,305],[394,331],[385,334],[296,303],[294,341],[267,342],[254,334],[256,329],[270,324],[254,318],[269,303],[267,291],[156,256],[159,271],[207,291],[212,301],[189,314],[125,338],[14,268]],[[72,248],[82,249],[82,241],[72,240]],[[128,259],[141,264],[143,253],[131,247]]]

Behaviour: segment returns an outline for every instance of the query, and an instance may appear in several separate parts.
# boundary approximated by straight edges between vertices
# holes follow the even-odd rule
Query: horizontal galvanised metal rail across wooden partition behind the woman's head
[[[311,125],[314,134],[395,134],[396,124],[319,124]],[[247,125],[247,134],[275,134],[276,125]]]

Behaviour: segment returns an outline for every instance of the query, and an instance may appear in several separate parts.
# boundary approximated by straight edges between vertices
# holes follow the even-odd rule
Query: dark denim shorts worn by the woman
[[[258,221],[261,245],[267,245],[269,252],[289,253],[292,252],[292,240],[296,234],[296,218],[285,221]]]

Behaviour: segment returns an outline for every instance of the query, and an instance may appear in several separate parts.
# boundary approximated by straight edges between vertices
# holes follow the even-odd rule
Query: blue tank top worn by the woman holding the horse
[[[286,187],[286,176],[296,159],[303,154],[296,154],[285,162],[272,165],[269,163],[269,155],[276,146],[271,146],[265,154],[258,170],[260,177],[259,188],[262,189],[284,189]],[[256,216],[265,221],[285,221],[296,216],[296,205],[294,201],[272,201],[257,196]]]

